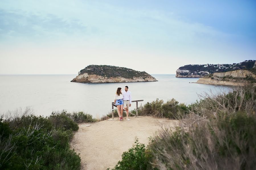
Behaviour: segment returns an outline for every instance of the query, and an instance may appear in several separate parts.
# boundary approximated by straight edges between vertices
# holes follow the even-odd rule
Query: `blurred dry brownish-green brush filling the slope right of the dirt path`
[[[168,127],[151,139],[157,169],[255,169],[256,88],[201,95],[176,131]]]

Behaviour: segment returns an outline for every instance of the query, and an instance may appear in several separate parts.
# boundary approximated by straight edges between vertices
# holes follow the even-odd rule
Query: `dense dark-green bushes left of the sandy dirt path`
[[[78,127],[64,115],[0,120],[0,169],[80,169],[79,155],[69,149]]]

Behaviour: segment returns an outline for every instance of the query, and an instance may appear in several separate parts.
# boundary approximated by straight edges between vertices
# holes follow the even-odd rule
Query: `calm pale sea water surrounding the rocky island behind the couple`
[[[31,107],[35,115],[49,116],[63,109],[84,111],[102,116],[111,111],[111,102],[118,87],[128,86],[132,100],[145,104],[156,98],[175,98],[190,104],[204,92],[227,91],[229,87],[196,84],[198,78],[176,78],[175,75],[153,75],[158,82],[83,84],[70,82],[76,75],[0,75],[0,114]],[[132,103],[131,109],[136,108]]]

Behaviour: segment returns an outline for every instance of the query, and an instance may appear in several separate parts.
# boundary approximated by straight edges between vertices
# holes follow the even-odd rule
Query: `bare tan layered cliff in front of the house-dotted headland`
[[[251,71],[235,70],[225,73],[213,73],[200,78],[196,83],[226,86],[241,86],[245,83],[253,83],[256,85],[255,71],[256,69],[251,69]]]

